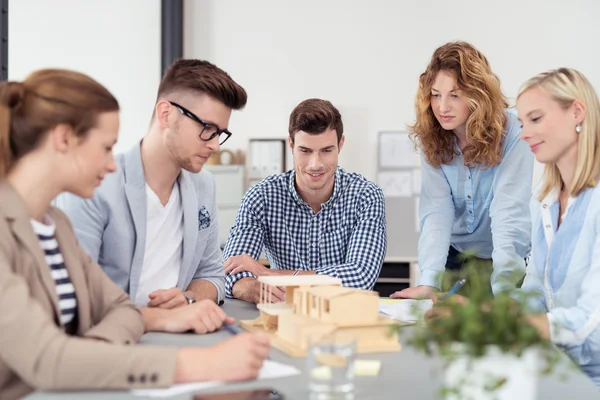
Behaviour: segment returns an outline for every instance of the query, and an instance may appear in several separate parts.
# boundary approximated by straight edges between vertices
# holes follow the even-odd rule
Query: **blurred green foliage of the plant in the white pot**
[[[527,300],[537,294],[519,290],[519,302],[513,299],[513,293],[508,289],[494,296],[490,285],[493,270],[491,263],[488,260],[477,259],[474,251],[463,254],[464,270],[458,275],[444,274],[442,282],[444,287],[451,287],[457,279],[465,278],[468,282],[468,293],[463,293],[461,289],[459,294],[467,294],[469,303],[438,303],[435,307],[445,307],[448,316],[417,324],[413,329],[407,330],[406,332],[410,332],[408,344],[428,355],[435,349],[446,362],[452,361],[458,355],[455,350],[457,343],[464,346],[463,354],[466,353],[473,359],[484,356],[490,345],[498,346],[503,352],[517,356],[535,347],[539,349],[544,361],[540,373],[548,374],[554,371],[561,359],[559,351],[550,342],[542,339],[527,320],[529,310],[525,305],[528,304]],[[502,278],[506,283],[503,287],[515,287],[515,283],[521,278],[518,273],[505,276]],[[402,334],[402,331],[400,333]],[[486,388],[495,391],[505,384],[506,377],[500,376],[487,384]],[[447,391],[451,389],[444,388]]]

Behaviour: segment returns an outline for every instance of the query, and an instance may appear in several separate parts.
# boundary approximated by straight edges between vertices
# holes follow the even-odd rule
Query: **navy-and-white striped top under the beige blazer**
[[[40,241],[40,246],[46,255],[46,263],[50,267],[50,273],[56,284],[56,294],[58,295],[58,306],[60,309],[60,323],[65,328],[75,318],[77,310],[77,299],[75,298],[75,288],[69,278],[69,273],[58,248],[58,242],[54,237],[56,227],[54,221],[46,217],[46,223],[31,220],[31,226]],[[69,330],[69,329],[67,329]]]

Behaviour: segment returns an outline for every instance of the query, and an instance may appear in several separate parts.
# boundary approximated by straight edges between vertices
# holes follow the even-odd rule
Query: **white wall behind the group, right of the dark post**
[[[419,74],[436,47],[483,51],[513,97],[546,69],[579,69],[600,91],[597,0],[187,0],[185,56],[208,59],[249,93],[226,147],[286,137],[294,106],[331,100],[342,113],[340,164],[375,180],[377,132],[414,119]],[[541,168],[535,171],[539,177]]]

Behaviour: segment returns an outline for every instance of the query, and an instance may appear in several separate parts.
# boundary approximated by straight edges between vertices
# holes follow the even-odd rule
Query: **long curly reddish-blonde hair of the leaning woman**
[[[487,58],[466,42],[439,47],[419,77],[415,99],[417,118],[414,125],[408,126],[415,147],[420,147],[427,162],[436,168],[450,163],[457,155],[452,133],[441,127],[431,109],[431,87],[440,71],[454,76],[471,112],[466,122],[465,165],[492,167],[499,164],[508,102]]]

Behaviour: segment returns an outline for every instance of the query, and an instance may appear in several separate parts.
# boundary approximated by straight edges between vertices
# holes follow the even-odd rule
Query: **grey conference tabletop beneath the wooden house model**
[[[258,316],[254,304],[227,300],[223,309],[236,320],[252,319]],[[410,327],[405,327],[407,332],[401,335],[401,342],[406,340]],[[231,333],[220,330],[207,335],[196,334],[167,334],[148,333],[142,337],[143,345],[160,345],[189,347],[206,347],[219,343],[231,337]],[[403,346],[402,351],[383,354],[360,354],[358,359],[379,360],[381,370],[377,376],[355,378],[355,399],[437,399],[443,380],[441,370],[442,362],[435,357],[427,357],[419,351]],[[286,400],[306,400],[309,398],[308,377],[306,374],[306,359],[292,358],[273,349],[271,359],[283,364],[293,365],[302,371],[302,374],[276,379],[266,379],[244,383],[228,384],[206,389],[204,392],[223,392],[242,389],[272,388],[285,396]],[[576,368],[572,367],[565,356],[557,370],[539,379],[539,399],[596,399],[600,392],[596,389],[591,379]],[[218,360],[206,360],[218,362]],[[566,377],[562,377],[565,375]],[[180,394],[170,399],[191,400],[193,393]],[[35,392],[27,399],[53,400],[53,399],[141,399],[128,391],[85,391],[85,392]],[[517,400],[517,399],[515,399]]]

